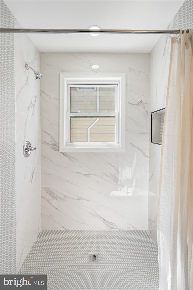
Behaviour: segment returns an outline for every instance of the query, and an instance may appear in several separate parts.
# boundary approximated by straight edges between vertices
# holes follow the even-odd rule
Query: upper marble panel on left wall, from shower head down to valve
[[[15,34],[16,146],[21,148],[26,140],[40,142],[40,80],[25,63],[40,71],[40,53],[29,37]]]

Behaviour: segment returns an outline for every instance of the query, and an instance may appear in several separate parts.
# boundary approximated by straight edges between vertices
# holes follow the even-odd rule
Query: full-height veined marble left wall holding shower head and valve
[[[15,19],[14,28],[21,28]],[[40,231],[40,80],[25,62],[40,70],[40,53],[26,34],[15,34],[15,132],[16,132],[16,261],[17,271]],[[28,158],[23,144],[37,147]]]

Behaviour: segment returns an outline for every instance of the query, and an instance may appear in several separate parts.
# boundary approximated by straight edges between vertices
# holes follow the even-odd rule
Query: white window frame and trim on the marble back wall
[[[103,80],[101,80],[103,79]],[[81,146],[77,142],[70,143],[67,137],[67,130],[70,128],[69,118],[67,114],[71,116],[80,116],[79,113],[69,113],[68,101],[68,84],[71,86],[85,86],[89,85],[115,85],[118,83],[120,95],[118,96],[118,108],[113,113],[105,113],[107,116],[118,116],[119,114],[119,137],[117,130],[115,131],[116,140],[119,142],[109,143],[94,143],[94,142],[82,142]],[[117,94],[116,94],[117,95]],[[65,113],[68,112],[68,113]],[[118,113],[119,112],[119,113]],[[84,114],[82,114],[84,116]],[[85,113],[85,116],[93,116],[93,113]],[[94,113],[96,118],[104,116],[104,113]],[[118,118],[115,118],[118,122]],[[65,128],[67,126],[67,130]],[[116,123],[117,127],[117,123]],[[60,152],[125,152],[125,73],[60,73]],[[68,132],[69,133],[69,132]]]

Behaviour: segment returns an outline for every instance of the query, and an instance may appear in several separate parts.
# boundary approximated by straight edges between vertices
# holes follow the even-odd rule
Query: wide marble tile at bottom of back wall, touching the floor
[[[126,200],[126,188],[43,187],[42,229],[126,230]]]

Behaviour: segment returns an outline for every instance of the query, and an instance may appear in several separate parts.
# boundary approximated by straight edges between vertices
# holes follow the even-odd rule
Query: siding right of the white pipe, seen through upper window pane
[[[99,88],[99,112],[115,112],[115,87]]]

